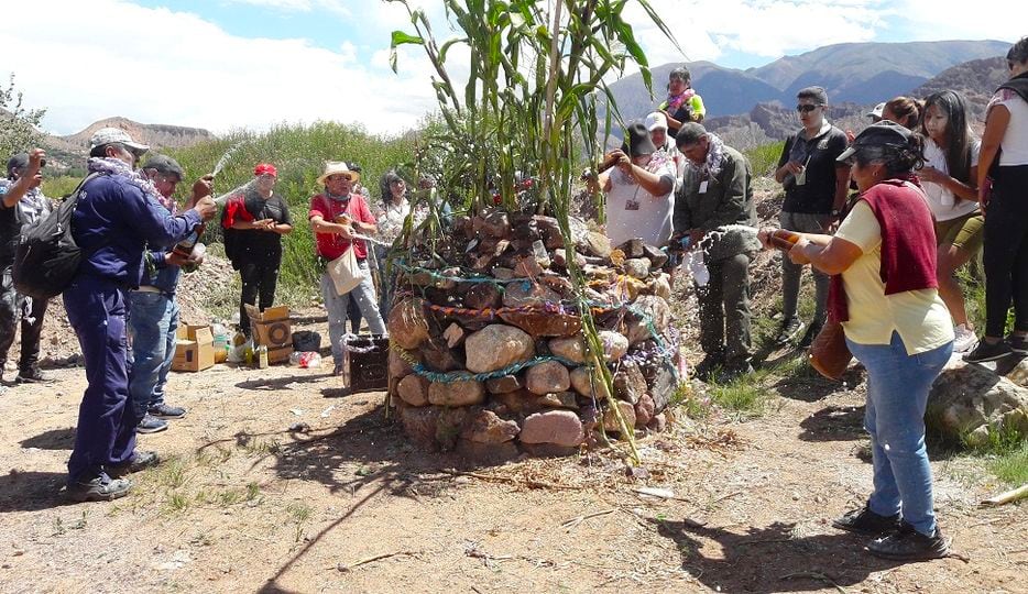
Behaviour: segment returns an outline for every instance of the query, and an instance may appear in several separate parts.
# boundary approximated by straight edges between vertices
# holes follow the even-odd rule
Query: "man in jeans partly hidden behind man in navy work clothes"
[[[177,215],[175,188],[185,177],[182,166],[172,157],[153,155],[142,167],[143,175],[160,193],[156,198],[168,213]],[[193,200],[210,194],[210,177],[193,185]],[[190,204],[193,204],[190,201]],[[199,264],[176,254],[174,244],[150,244],[143,254],[143,277],[139,288],[129,293],[129,336],[132,338],[132,362],[129,395],[139,433],[155,433],[167,429],[167,420],[179,419],[186,409],[164,402],[167,372],[175,359],[175,331],[178,328],[178,286],[181,266]]]

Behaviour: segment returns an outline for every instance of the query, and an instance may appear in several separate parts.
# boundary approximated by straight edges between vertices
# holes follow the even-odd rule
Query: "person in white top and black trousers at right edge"
[[[986,319],[985,338],[964,355],[972,362],[1028,353],[1028,37],[1007,52],[1007,66],[1010,79],[988,101],[982,134]],[[1014,332],[1004,340],[1011,300]]]

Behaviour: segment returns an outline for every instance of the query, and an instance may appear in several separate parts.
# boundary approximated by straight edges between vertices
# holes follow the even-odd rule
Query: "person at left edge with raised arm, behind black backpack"
[[[14,382],[51,383],[53,377],[40,371],[40,337],[46,299],[33,299],[14,290],[12,276],[14,248],[22,230],[53,210],[50,198],[43,196],[41,167],[45,164],[42,148],[32,155],[20,153],[7,164],[7,179],[0,179],[0,380],[8,352],[14,343],[14,332],[21,326],[21,358]]]

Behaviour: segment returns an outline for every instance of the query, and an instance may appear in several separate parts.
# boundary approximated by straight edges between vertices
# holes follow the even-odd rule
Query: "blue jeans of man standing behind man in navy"
[[[175,359],[175,330],[178,304],[162,293],[134,290],[129,294],[129,336],[132,339],[129,364],[129,395],[135,416],[164,404],[167,372]]]

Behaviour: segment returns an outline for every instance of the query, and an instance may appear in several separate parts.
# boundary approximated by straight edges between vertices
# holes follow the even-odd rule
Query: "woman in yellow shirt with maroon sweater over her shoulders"
[[[918,140],[901,125],[870,125],[839,158],[860,198],[834,235],[800,233],[789,257],[833,275],[829,316],[867,370],[864,427],[874,490],[836,528],[873,537],[867,550],[898,560],[937,559],[947,543],[932,509],[925,407],[950,359],[953,324],[939,297],[931,211],[917,186]],[[769,246],[768,231],[761,241]]]

